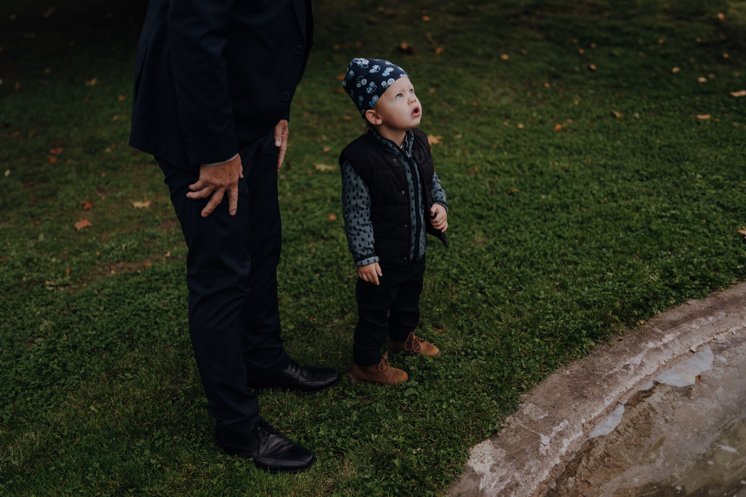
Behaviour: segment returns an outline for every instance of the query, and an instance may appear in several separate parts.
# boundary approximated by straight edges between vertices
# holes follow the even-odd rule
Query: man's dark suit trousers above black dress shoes
[[[186,198],[198,172],[158,159],[181,222],[189,288],[189,335],[207,395],[207,412],[225,429],[240,432],[259,420],[246,375],[269,376],[289,364],[280,338],[277,266],[280,205],[273,134],[241,151],[236,215],[228,195],[207,218],[209,199]]]

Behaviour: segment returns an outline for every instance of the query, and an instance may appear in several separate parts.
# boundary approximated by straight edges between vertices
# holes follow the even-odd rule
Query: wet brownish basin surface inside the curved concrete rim
[[[746,496],[746,330],[697,353],[634,393],[547,497]]]

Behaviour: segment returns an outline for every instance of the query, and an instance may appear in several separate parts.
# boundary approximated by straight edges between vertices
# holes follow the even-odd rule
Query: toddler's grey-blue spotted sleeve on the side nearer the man
[[[342,162],[342,217],[345,218],[347,246],[357,267],[378,262],[373,250],[371,196],[366,182],[349,160]]]

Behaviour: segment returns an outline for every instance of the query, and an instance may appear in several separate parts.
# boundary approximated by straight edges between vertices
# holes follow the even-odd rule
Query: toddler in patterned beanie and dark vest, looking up
[[[345,233],[359,276],[350,379],[396,384],[408,376],[389,366],[389,352],[440,353],[414,331],[425,233],[446,244],[448,204],[427,136],[416,127],[422,106],[404,69],[388,60],[357,58],[342,86],[368,127],[339,155]],[[381,355],[387,337],[387,352]]]

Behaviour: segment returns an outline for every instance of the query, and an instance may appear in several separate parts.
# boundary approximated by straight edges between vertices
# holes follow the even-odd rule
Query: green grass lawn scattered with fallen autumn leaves
[[[367,56],[410,73],[439,137],[451,248],[430,244],[419,334],[442,358],[392,358],[399,387],[263,393],[319,457],[302,475],[219,452],[184,240],[127,146],[146,2],[4,1],[1,495],[443,496],[560,364],[746,275],[746,1],[317,3],[280,171],[286,346],[351,367],[356,276],[323,166],[363,131],[337,76]]]

